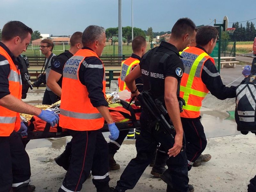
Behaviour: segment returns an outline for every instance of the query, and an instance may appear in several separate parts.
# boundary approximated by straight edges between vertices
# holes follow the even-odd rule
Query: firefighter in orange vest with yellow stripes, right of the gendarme
[[[223,85],[214,59],[209,56],[216,45],[218,31],[212,26],[204,26],[196,33],[196,47],[181,53],[184,73],[180,84],[180,97],[186,102],[180,114],[186,136],[188,170],[211,159],[210,154],[202,155],[207,141],[204,127],[200,122],[202,101],[210,91],[218,99],[236,97],[236,87]]]

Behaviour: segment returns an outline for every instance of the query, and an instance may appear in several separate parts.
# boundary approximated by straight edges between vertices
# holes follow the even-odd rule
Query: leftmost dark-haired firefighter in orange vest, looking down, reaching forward
[[[30,42],[32,29],[20,21],[6,23],[0,42],[0,191],[31,192],[29,157],[20,136],[27,136],[27,127],[20,113],[36,115],[51,126],[59,116],[21,101],[21,63],[16,59]]]

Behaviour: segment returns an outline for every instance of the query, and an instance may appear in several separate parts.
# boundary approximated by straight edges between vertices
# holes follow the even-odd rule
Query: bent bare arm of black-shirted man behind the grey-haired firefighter
[[[60,80],[60,78],[61,78],[60,73],[54,70],[50,70],[50,73],[46,82],[47,86],[52,90],[52,92],[54,92],[59,97],[61,97],[61,87],[57,82]]]

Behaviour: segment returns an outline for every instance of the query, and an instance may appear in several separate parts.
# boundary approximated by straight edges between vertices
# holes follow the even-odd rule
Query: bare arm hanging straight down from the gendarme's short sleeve
[[[178,80],[174,77],[166,77],[164,80],[164,101],[167,112],[175,127],[176,136],[172,149],[169,149],[169,156],[175,157],[180,153],[183,139],[183,128],[180,120],[180,108],[177,99]]]

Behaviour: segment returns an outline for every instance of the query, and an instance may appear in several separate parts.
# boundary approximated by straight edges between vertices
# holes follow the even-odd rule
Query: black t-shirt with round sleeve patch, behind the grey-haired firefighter
[[[68,61],[68,59],[71,58],[72,56],[73,56],[72,53],[70,53],[68,50],[65,50],[65,52],[61,53],[54,59],[54,62],[51,66],[51,70],[61,74],[61,78],[57,82],[60,85],[60,87],[62,86],[62,78],[63,78],[62,74],[63,74],[64,65]]]

